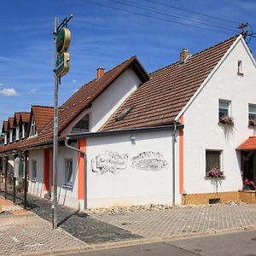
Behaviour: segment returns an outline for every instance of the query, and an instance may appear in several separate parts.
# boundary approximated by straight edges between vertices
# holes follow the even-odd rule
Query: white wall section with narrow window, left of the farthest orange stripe
[[[37,178],[32,181],[32,161],[37,161]],[[44,150],[29,151],[28,192],[44,197]]]

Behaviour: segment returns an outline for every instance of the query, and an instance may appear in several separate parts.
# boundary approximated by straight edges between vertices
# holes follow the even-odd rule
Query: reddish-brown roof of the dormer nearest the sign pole
[[[54,108],[48,106],[32,106],[31,119],[32,116],[35,119],[37,131],[40,133],[49,121],[53,119]]]

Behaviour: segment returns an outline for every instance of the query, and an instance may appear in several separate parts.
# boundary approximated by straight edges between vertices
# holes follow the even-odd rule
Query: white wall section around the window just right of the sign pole
[[[71,146],[77,148],[77,143]],[[73,186],[67,188],[65,184],[65,158],[73,159]],[[78,200],[78,153],[66,147],[59,147],[58,152],[58,203],[67,207],[79,209]]]

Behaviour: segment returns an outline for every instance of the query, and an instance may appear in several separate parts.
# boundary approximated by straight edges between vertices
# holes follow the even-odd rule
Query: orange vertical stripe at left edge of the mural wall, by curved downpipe
[[[79,149],[83,150],[86,152],[86,139],[80,139],[79,140]],[[85,184],[84,184],[84,154],[79,153],[79,186],[78,186],[78,198],[79,200],[84,199],[84,189],[85,189]]]

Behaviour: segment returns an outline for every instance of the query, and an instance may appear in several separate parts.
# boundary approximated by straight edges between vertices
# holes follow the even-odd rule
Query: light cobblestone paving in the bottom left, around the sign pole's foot
[[[0,255],[40,254],[85,247],[84,242],[61,229],[52,230],[47,221],[34,214],[0,217]]]

